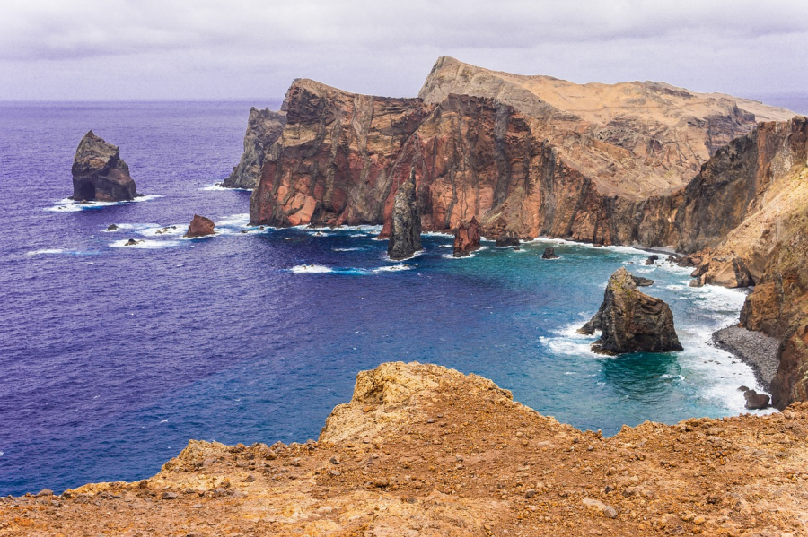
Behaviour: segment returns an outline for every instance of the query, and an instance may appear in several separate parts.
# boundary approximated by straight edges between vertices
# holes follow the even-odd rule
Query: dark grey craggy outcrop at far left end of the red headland
[[[269,149],[284,132],[286,113],[273,112],[269,108],[259,110],[250,108],[247,120],[247,133],[244,134],[244,153],[238,166],[233,168],[230,177],[224,179],[222,186],[228,188],[254,188],[261,175]]]

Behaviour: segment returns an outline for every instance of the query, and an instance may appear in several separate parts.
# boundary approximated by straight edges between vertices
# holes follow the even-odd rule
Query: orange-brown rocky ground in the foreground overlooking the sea
[[[808,535],[808,403],[615,437],[382,364],[319,442],[191,441],[153,478],[0,499],[0,535]]]

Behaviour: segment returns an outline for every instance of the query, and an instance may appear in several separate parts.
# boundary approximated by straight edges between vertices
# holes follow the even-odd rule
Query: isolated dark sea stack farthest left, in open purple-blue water
[[[73,196],[76,201],[122,202],[135,199],[135,181],[119,157],[117,145],[92,131],[84,134],[73,159]]]

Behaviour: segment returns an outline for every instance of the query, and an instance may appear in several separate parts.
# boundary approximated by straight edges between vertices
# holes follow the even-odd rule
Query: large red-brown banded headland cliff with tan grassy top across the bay
[[[424,230],[453,230],[476,217],[492,237],[511,230],[522,238],[643,242],[658,230],[639,234],[637,214],[665,221],[671,210],[648,197],[684,186],[718,146],[754,128],[755,113],[742,106],[761,117],[791,116],[664,84],[578,85],[452,58],[438,60],[418,99],[298,80],[250,220],[389,227],[392,198],[415,166]],[[602,111],[586,112],[592,107]]]

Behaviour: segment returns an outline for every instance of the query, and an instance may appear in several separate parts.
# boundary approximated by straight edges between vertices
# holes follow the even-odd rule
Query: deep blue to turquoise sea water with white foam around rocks
[[[0,495],[141,479],[189,438],[316,438],[356,372],[390,360],[479,373],[605,434],[743,411],[750,369],[707,344],[742,293],[691,289],[638,250],[487,243],[458,260],[429,235],[394,264],[375,230],[247,228],[250,193],[210,186],[251,104],[278,103],[0,103]],[[66,203],[91,128],[151,197]],[[180,238],[195,212],[220,233]],[[560,259],[540,259],[548,244]],[[657,281],[686,351],[604,358],[575,335],[622,264]]]

